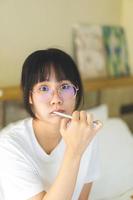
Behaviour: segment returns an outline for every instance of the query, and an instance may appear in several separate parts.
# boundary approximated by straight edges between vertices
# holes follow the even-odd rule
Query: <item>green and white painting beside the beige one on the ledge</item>
[[[130,74],[125,32],[122,27],[103,26],[103,41],[106,50],[106,68],[109,76],[121,77]]]

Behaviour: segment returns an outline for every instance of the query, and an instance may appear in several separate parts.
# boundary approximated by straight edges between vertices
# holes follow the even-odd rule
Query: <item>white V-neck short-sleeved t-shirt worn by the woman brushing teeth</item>
[[[48,155],[37,142],[32,118],[5,127],[0,132],[0,199],[27,200],[47,192],[57,176],[64,150],[61,139]],[[98,176],[97,140],[93,139],[82,156],[72,200],[78,199],[85,183]]]

